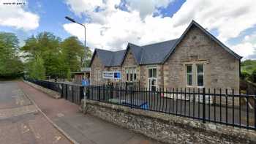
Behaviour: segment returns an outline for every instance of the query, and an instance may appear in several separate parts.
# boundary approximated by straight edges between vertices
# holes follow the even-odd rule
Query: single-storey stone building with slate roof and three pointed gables
[[[140,82],[152,91],[203,87],[238,91],[240,62],[241,56],[193,20],[178,39],[143,46],[129,43],[119,51],[94,50],[91,84]]]

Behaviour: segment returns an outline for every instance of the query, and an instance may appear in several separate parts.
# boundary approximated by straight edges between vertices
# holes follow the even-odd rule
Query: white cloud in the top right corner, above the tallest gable
[[[255,0],[193,0],[186,1],[173,15],[175,25],[196,20],[208,29],[217,29],[222,41],[238,37],[238,34],[256,24]]]

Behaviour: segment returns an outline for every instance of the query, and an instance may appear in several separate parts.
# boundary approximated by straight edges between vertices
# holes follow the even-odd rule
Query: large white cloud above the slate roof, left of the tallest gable
[[[143,45],[148,42],[173,39],[176,38],[176,34],[181,34],[182,31],[179,31],[179,28],[176,28],[176,31],[165,29],[172,27],[171,18],[161,18],[161,16],[153,18],[152,15],[146,15],[142,20],[138,10],[126,12],[116,9],[120,2],[120,0],[105,1],[101,5],[102,11],[100,12],[94,12],[90,7],[83,5],[84,10],[87,10],[86,15],[91,18],[91,23],[86,23],[86,40],[92,48],[120,50],[125,48],[127,42]],[[79,7],[75,9],[72,0],[69,0],[68,4],[76,14],[81,15],[84,12],[84,10],[80,11]],[[96,5],[99,6],[99,4]],[[74,23],[66,23],[64,29],[83,40],[83,27]]]

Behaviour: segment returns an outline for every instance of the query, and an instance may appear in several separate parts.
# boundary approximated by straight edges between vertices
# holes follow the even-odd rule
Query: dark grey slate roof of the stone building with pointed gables
[[[206,29],[203,29],[202,26],[200,26],[198,23],[192,20],[192,23],[189,24],[186,31],[184,31],[184,33],[178,39],[171,39],[165,42],[158,42],[151,45],[143,45],[143,46],[138,46],[132,43],[128,43],[126,50],[119,50],[119,51],[95,49],[93,57],[91,58],[91,62],[93,61],[94,56],[97,53],[99,56],[99,59],[101,60],[102,64],[105,65],[105,67],[121,66],[127,52],[130,50],[137,64],[140,64],[140,65],[162,64],[171,55],[171,53],[173,53],[173,51],[176,48],[176,45],[178,45],[178,43],[181,42],[181,39],[183,39],[183,37],[187,34],[187,31],[189,31],[189,29],[192,26],[197,26],[206,35],[211,37],[211,39],[217,42],[220,46],[222,46],[222,48],[227,50],[227,52],[233,55],[235,58],[238,58],[238,59],[242,58],[241,56],[238,56],[238,54],[230,50],[230,48],[227,48],[227,46],[225,46],[216,37],[214,37],[208,31],[206,31]]]

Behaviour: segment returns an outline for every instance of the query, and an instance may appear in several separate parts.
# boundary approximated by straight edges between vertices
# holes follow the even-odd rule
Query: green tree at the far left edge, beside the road
[[[18,44],[15,34],[0,32],[0,77],[18,77],[23,73]]]

